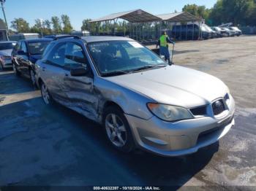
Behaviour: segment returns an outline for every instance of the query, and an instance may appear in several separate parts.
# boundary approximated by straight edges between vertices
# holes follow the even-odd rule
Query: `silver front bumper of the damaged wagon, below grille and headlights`
[[[162,156],[180,156],[197,152],[221,139],[235,125],[235,101],[221,117],[201,117],[179,122],[165,122],[157,117],[143,120],[126,114],[135,144]]]

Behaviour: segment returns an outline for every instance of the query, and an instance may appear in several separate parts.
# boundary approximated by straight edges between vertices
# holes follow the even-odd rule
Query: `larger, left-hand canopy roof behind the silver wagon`
[[[105,17],[100,17],[99,19],[91,20],[90,23],[115,20],[117,18],[127,20],[130,23],[146,23],[162,20],[161,18],[155,15],[151,15],[150,13],[145,12],[142,9],[136,9],[132,11],[118,12],[111,15],[107,15]]]

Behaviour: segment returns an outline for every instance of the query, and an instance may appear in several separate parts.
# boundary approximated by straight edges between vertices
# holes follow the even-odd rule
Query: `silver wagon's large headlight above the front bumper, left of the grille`
[[[148,103],[148,109],[161,120],[178,121],[192,119],[192,114],[180,106]]]

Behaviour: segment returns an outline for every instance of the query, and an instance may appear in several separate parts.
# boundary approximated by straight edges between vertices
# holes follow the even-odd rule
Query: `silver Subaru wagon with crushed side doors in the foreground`
[[[235,101],[221,80],[169,66],[133,39],[61,36],[36,73],[45,104],[56,101],[99,122],[124,152],[191,154],[235,124]]]

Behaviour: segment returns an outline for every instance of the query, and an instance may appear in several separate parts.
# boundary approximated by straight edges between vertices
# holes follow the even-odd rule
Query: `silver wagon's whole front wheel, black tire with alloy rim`
[[[131,128],[121,109],[117,106],[105,109],[102,124],[113,147],[121,152],[132,152],[135,149]]]

